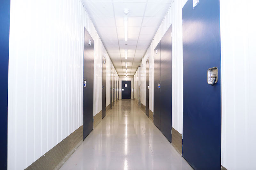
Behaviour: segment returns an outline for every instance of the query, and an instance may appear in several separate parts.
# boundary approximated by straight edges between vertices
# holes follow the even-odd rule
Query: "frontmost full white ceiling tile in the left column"
[[[83,2],[90,16],[114,16],[112,2]]]

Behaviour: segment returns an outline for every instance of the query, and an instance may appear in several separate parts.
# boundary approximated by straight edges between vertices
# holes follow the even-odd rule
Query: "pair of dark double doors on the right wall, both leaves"
[[[154,124],[172,142],[172,26],[154,50]]]

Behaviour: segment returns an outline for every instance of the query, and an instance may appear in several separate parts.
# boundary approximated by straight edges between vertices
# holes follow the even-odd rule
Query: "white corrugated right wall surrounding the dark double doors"
[[[154,49],[172,25],[172,127],[182,134],[183,67],[182,67],[182,7],[187,0],[172,1],[156,35],[148,48],[149,55],[149,110],[154,112]]]

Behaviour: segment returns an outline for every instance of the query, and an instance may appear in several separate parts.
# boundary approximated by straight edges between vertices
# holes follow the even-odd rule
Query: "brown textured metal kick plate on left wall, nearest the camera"
[[[68,160],[78,146],[83,142],[83,126],[80,126],[68,137],[55,145],[50,151],[46,152],[28,166],[25,170],[33,169],[53,169],[57,170]]]

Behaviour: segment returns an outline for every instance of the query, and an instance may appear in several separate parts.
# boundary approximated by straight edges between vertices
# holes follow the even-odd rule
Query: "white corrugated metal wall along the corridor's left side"
[[[102,55],[112,63],[81,1],[11,1],[8,169],[25,169],[82,125],[84,27],[95,41],[95,115]]]

